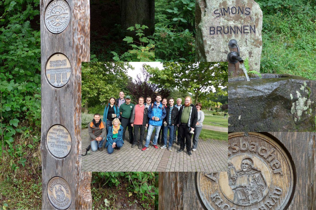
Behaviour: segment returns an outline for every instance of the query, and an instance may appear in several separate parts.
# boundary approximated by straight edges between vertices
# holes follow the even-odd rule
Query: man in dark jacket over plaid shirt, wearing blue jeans
[[[167,148],[167,134],[169,129],[169,146],[168,150],[172,151],[173,131],[178,123],[179,110],[173,106],[174,99],[169,99],[169,106],[166,107],[166,117],[162,120],[162,126],[165,126],[163,130],[163,141],[164,144],[160,147],[161,149]]]

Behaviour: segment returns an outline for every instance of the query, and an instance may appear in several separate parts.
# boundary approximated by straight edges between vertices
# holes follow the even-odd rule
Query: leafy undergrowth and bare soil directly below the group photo
[[[93,209],[154,209],[153,172],[93,172]]]

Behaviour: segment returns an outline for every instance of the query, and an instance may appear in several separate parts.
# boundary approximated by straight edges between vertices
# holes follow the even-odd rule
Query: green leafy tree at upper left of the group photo
[[[132,68],[123,62],[82,63],[82,105],[85,112],[89,106],[106,104],[110,97],[117,97],[125,91],[125,84],[131,80],[127,69]]]

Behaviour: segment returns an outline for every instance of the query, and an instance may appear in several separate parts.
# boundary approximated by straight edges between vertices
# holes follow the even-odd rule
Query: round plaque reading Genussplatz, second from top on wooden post
[[[46,77],[54,87],[63,87],[70,78],[71,65],[69,59],[61,53],[51,56],[46,64]]]

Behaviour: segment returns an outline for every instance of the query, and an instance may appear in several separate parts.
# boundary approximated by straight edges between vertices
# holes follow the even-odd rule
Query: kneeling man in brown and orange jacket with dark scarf
[[[94,114],[92,122],[88,125],[88,134],[90,136],[90,144],[92,151],[97,151],[98,142],[99,150],[102,151],[102,145],[105,140],[103,139],[103,137],[105,137],[106,135],[106,128],[103,125],[100,114]]]

